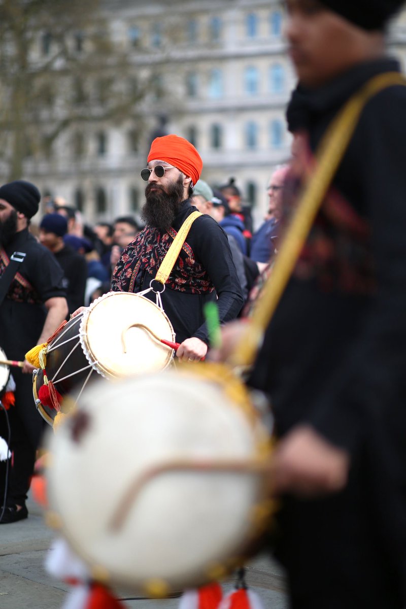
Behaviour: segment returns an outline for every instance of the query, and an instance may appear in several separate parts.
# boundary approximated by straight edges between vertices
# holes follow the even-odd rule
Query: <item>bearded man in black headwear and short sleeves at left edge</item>
[[[28,230],[40,198],[37,186],[24,180],[0,187],[0,290],[10,258],[22,260],[0,304],[0,345],[8,359],[24,362],[23,368],[12,368],[15,406],[8,416],[13,460],[7,487],[6,465],[0,463],[0,524],[27,518],[27,491],[43,431],[44,421],[32,397],[33,367],[25,354],[45,342],[68,313],[63,271]],[[8,435],[4,412],[0,412],[0,436],[8,439]]]

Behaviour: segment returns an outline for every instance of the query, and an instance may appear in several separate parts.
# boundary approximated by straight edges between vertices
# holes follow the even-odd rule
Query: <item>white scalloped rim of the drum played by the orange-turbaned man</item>
[[[103,378],[106,378],[109,380],[124,379],[124,378],[127,378],[128,375],[114,374],[111,372],[111,370],[106,368],[100,362],[96,363],[96,357],[94,356],[93,350],[91,349],[91,346],[87,340],[88,337],[87,337],[87,333],[86,333],[86,326],[87,326],[91,312],[93,311],[94,308],[96,308],[96,306],[100,303],[100,301],[107,300],[107,298],[110,298],[110,297],[113,297],[113,296],[116,296],[119,294],[125,294],[126,297],[130,296],[130,297],[142,298],[142,300],[146,300],[149,303],[149,305],[152,305],[153,307],[158,309],[159,312],[161,312],[161,314],[164,315],[164,317],[169,325],[170,331],[172,333],[172,339],[173,339],[173,341],[175,340],[175,331],[173,330],[172,323],[170,322],[170,319],[167,316],[166,312],[164,311],[164,309],[162,309],[161,307],[156,305],[149,298],[145,298],[145,296],[142,296],[141,294],[136,294],[136,292],[122,292],[122,291],[107,292],[106,294],[103,294],[99,298],[96,298],[96,300],[94,300],[93,303],[91,303],[91,305],[88,308],[86,308],[85,311],[83,311],[82,320],[81,320],[80,326],[79,326],[79,340],[80,340],[80,346],[82,347],[82,351],[85,354],[86,360],[89,362],[89,364],[91,365],[93,370],[96,370],[96,372],[99,373],[99,375],[101,375],[101,376],[103,376]],[[169,351],[168,351],[168,353],[169,353]],[[166,368],[172,363],[174,354],[175,354],[175,351],[172,349],[170,356],[168,357],[168,361],[162,368],[160,368],[160,371],[166,370]]]

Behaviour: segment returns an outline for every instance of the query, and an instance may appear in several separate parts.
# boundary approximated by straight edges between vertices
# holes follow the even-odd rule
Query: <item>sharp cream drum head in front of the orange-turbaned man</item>
[[[83,312],[80,341],[89,363],[103,376],[142,375],[163,370],[173,359],[173,350],[149,329],[160,339],[175,340],[167,315],[151,300],[109,292]]]

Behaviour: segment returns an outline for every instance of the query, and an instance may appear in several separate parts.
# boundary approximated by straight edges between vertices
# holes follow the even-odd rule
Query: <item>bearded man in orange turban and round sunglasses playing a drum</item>
[[[148,181],[142,208],[145,228],[122,252],[113,272],[113,291],[148,289],[184,220],[196,211],[190,197],[203,161],[195,147],[177,135],[166,135],[154,139],[147,161],[141,172]],[[205,303],[217,298],[220,323],[235,319],[243,304],[228,239],[210,216],[202,215],[192,224],[165,287],[164,311],[181,343],[177,356],[205,357]],[[154,292],[145,296],[155,301]]]

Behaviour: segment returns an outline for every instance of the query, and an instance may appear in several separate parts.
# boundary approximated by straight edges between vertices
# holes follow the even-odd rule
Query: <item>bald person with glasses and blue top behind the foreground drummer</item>
[[[262,224],[251,239],[250,258],[267,264],[275,253],[275,238],[278,237],[279,220],[282,214],[282,194],[289,166],[276,167],[271,175],[268,194],[268,209]]]

